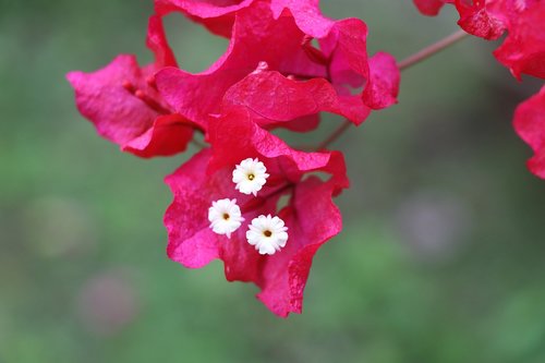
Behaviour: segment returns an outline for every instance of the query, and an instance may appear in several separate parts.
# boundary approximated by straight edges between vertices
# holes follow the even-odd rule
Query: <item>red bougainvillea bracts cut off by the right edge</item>
[[[413,0],[425,15],[436,15],[446,3],[456,5],[458,24],[469,34],[494,40],[507,37],[494,51],[519,81],[522,74],[545,80],[545,1],[543,0]],[[544,90],[521,104],[514,129],[534,149],[530,170],[545,179]]]

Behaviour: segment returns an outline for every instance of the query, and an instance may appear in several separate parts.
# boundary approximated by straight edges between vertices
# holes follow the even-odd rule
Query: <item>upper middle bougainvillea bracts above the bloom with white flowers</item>
[[[275,121],[308,117],[324,110],[346,116],[359,124],[371,109],[396,101],[399,84],[396,61],[391,56],[380,53],[376,61],[370,62],[367,29],[362,21],[334,22],[318,15],[307,14],[305,17],[300,14],[296,23],[298,17],[290,10],[283,9],[275,16],[268,2],[255,1],[237,11],[229,48],[215,64],[199,74],[167,68],[157,74],[157,86],[175,112],[197,122],[206,120],[209,114],[221,113],[226,93],[242,81],[244,84],[228,96],[230,101],[233,94],[247,94],[247,99],[238,102],[269,114],[270,120],[265,123],[278,124]],[[312,16],[316,16],[314,23]],[[298,24],[303,24],[304,28]],[[314,28],[311,24],[315,24]],[[311,44],[317,36],[320,36],[322,50]],[[370,70],[370,66],[375,70]],[[278,73],[262,73],[244,80],[252,72],[263,71]],[[329,85],[324,86],[324,80]],[[252,86],[252,82],[259,86]],[[352,95],[359,87],[364,92]],[[320,94],[315,94],[316,90]],[[313,94],[315,99],[302,107],[291,97],[276,98],[269,106],[263,101],[263,98],[272,98],[270,96],[276,94],[288,96],[288,92],[294,98],[308,99],[306,96]],[[279,110],[282,107],[283,110]],[[278,114],[280,119],[275,119],[275,113],[282,112]],[[307,120],[308,124],[301,129],[315,125],[315,119]]]

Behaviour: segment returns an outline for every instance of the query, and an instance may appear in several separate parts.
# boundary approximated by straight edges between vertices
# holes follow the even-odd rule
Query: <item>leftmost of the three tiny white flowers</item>
[[[237,199],[219,199],[208,208],[208,220],[214,232],[231,238],[231,233],[239,229],[244,218]]]

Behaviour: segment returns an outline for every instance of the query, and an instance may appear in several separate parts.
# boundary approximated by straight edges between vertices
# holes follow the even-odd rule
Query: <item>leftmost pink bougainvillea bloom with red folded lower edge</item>
[[[194,126],[172,114],[155,86],[155,73],[177,64],[158,16],[149,20],[147,46],[156,58],[147,66],[122,55],[101,70],[71,72],[66,77],[80,112],[101,136],[141,157],[172,155],[185,149]]]

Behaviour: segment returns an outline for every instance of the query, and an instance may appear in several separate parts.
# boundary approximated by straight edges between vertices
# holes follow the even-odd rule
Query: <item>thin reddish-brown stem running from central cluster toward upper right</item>
[[[447,36],[446,38],[440,39],[437,43],[434,43],[431,46],[427,46],[426,48],[422,49],[421,51],[403,59],[398,63],[398,68],[401,71],[407,70],[408,68],[417,64],[422,62],[423,60],[440,52],[441,50],[455,45],[459,40],[463,39],[465,36],[468,36],[468,33],[463,31],[458,31],[456,33],[452,33],[451,35]],[[344,120],[344,122],[337,128],[325,141],[323,141],[317,147],[316,150],[322,150],[332,144],[337,138],[339,138],[340,135],[342,135],[352,124],[349,120]]]

